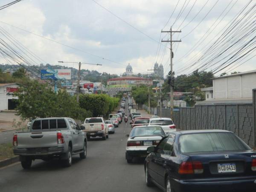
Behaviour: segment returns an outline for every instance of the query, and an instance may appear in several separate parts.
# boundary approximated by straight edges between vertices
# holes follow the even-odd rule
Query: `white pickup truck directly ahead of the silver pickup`
[[[87,133],[87,139],[90,137],[102,137],[102,140],[108,139],[108,125],[102,117],[91,117],[84,120],[84,132]]]

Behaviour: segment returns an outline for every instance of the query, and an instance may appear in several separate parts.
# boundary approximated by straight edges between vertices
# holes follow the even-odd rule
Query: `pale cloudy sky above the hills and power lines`
[[[10,3],[11,1],[12,0],[1,0],[0,6]],[[169,45],[166,43],[161,45],[159,54],[156,54],[158,47],[157,42],[160,39],[161,29],[169,30],[185,3],[184,7],[186,6],[186,9],[184,9],[173,26],[173,30],[182,29],[180,35],[177,33],[173,36],[174,40],[180,38],[182,40],[181,43],[174,43],[174,71],[177,72],[176,74],[188,74],[191,70],[194,70],[193,67],[183,72],[178,72],[187,67],[190,64],[189,61],[192,61],[198,54],[201,54],[203,50],[207,48],[207,45],[212,42],[212,38],[218,37],[217,34],[224,29],[241,8],[249,2],[249,0],[218,0],[218,2],[217,0],[209,0],[208,3],[206,3],[207,0],[180,0],[177,4],[178,0],[96,1],[155,41],[115,17],[93,2],[93,0],[23,0],[20,3],[0,10],[0,21],[67,44],[84,52],[64,47],[4,23],[0,23],[0,26],[4,27],[24,46],[49,64],[58,64],[57,61],[99,63],[103,66],[83,65],[82,68],[98,70],[101,73],[107,72],[120,75],[125,72],[125,67],[128,63],[131,64],[135,73],[148,73],[147,70],[152,69],[154,63],[157,61],[164,65],[166,74],[169,71],[170,52],[168,48],[165,49],[165,47],[169,47]],[[205,7],[198,16],[195,17],[205,3]],[[176,4],[177,8],[169,20]],[[191,9],[193,4],[194,7]],[[252,5],[253,3],[251,6]],[[214,7],[212,8],[212,6]],[[186,52],[202,39],[205,32],[207,32],[226,7],[227,9],[222,16],[224,16],[231,7],[232,9],[230,9],[218,26],[215,27],[212,33],[209,34],[203,43],[192,51],[191,54],[183,57]],[[212,10],[209,12],[211,8]],[[183,22],[190,9],[191,12]],[[207,15],[207,12],[209,12],[209,15]],[[207,17],[201,22],[205,15],[207,15]],[[221,20],[222,16],[219,20]],[[193,17],[195,17],[194,20],[192,20]],[[168,20],[169,23],[167,23]],[[192,20],[191,23],[189,23],[190,20]],[[181,23],[181,27],[178,28]],[[189,24],[186,26],[187,23]],[[165,25],[166,27],[163,28]],[[195,28],[195,26],[197,27]],[[194,28],[195,30],[187,35]],[[162,34],[161,39],[165,35],[166,34]],[[185,35],[187,36],[182,38]],[[164,39],[167,40],[168,38],[169,35]],[[177,44],[179,44],[178,47]],[[92,56],[85,52],[100,57]],[[254,54],[252,53],[251,56]],[[156,57],[156,55],[158,56]],[[102,58],[107,58],[116,63]],[[182,59],[180,60],[180,58]],[[256,59],[251,59],[236,68],[235,71],[244,72],[255,70],[255,62]],[[0,57],[0,63],[6,63],[6,61]],[[37,64],[39,64],[39,62]],[[78,68],[76,64],[64,65]],[[197,68],[197,66],[194,67],[195,69]]]

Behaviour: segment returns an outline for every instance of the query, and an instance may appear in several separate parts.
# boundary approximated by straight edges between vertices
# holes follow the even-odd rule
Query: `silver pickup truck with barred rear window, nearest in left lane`
[[[21,165],[29,169],[32,160],[58,158],[64,166],[71,166],[72,156],[87,155],[87,138],[83,126],[68,117],[34,119],[29,131],[16,132],[13,136],[13,152],[20,156]]]

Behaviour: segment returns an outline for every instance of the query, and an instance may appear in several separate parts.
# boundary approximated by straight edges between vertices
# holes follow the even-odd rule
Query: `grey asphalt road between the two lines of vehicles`
[[[87,158],[76,156],[69,168],[58,161],[42,160],[35,160],[30,170],[23,170],[20,163],[0,168],[0,191],[160,192],[145,185],[143,160],[126,163],[125,134],[130,131],[130,125],[123,122],[106,141],[89,141]]]

